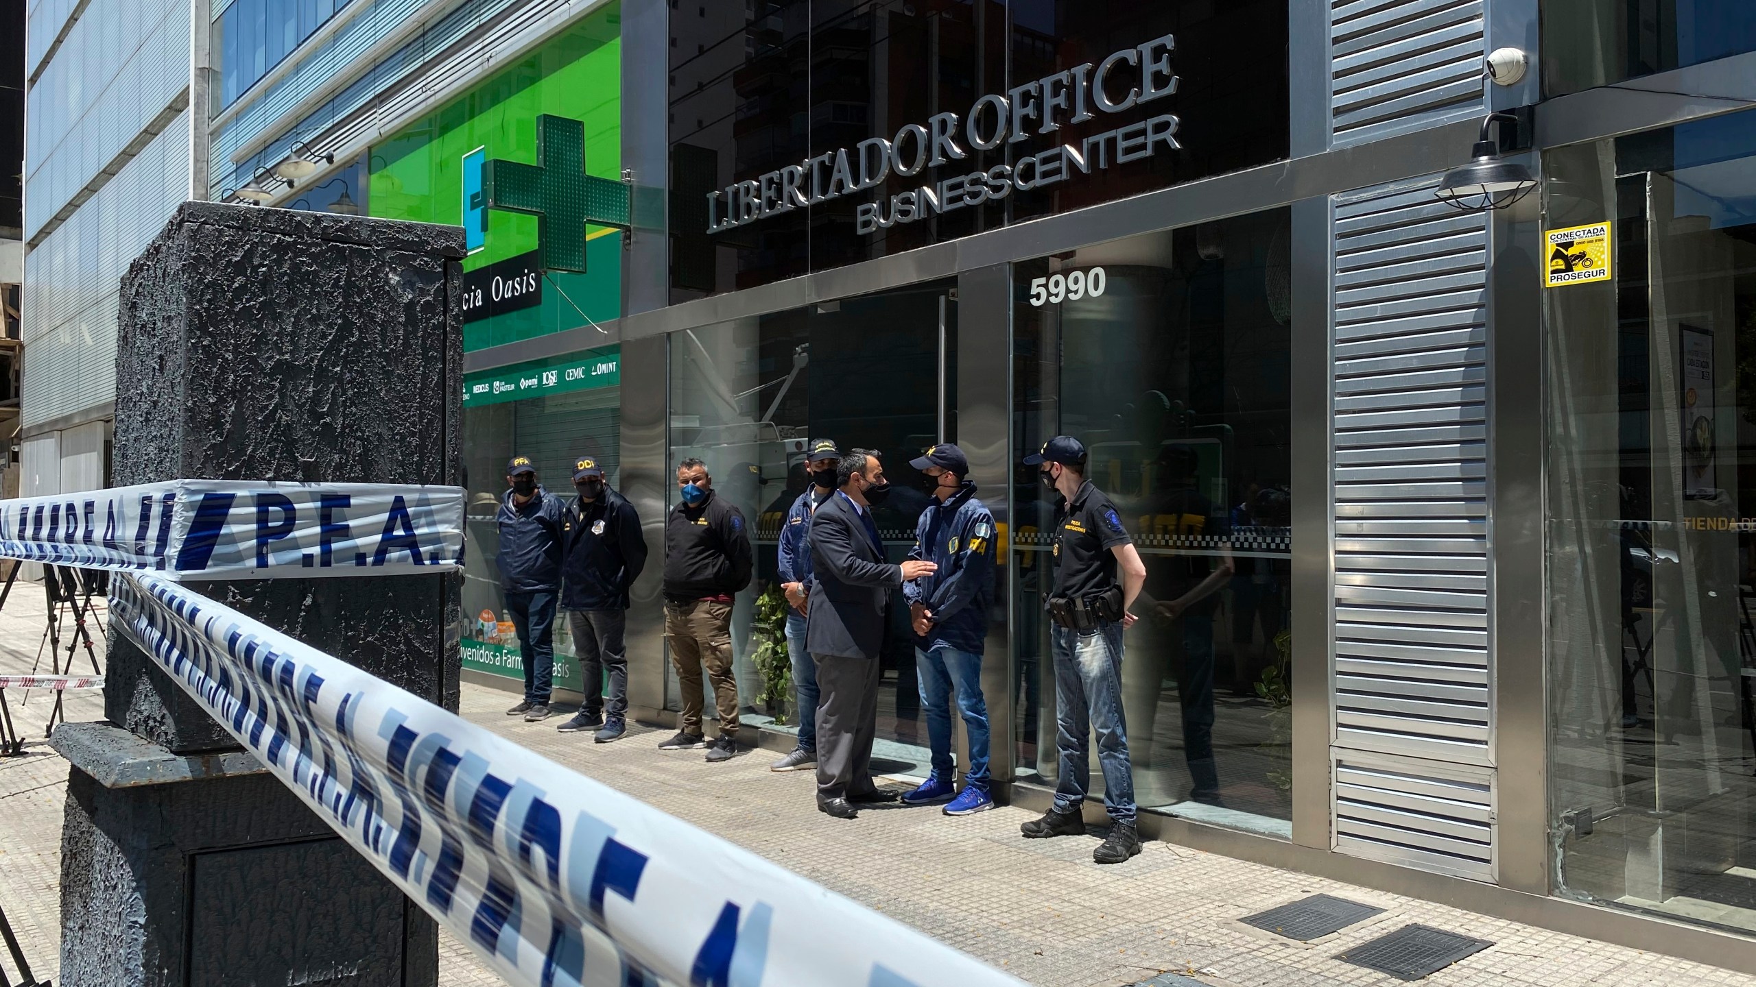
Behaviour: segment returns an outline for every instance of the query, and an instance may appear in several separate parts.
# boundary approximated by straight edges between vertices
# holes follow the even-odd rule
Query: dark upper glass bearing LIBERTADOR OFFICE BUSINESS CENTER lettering
[[[1285,46],[1287,0],[673,0],[673,302],[1285,158]]]

